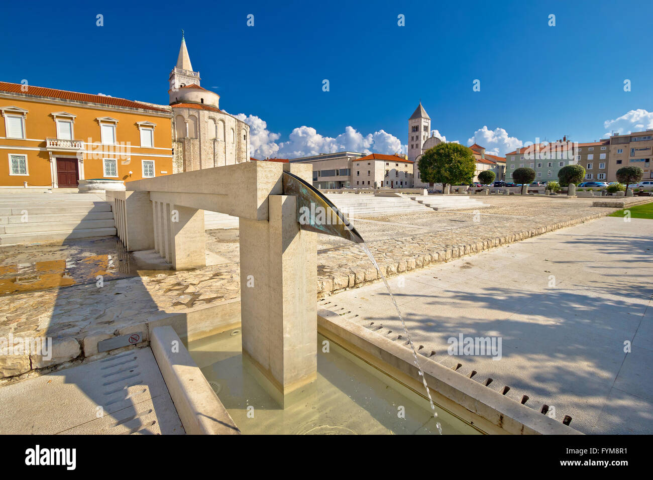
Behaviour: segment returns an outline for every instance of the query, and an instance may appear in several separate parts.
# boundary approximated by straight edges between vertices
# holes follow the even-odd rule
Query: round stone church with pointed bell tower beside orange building
[[[183,35],[168,93],[173,173],[249,161],[249,125],[220,110],[220,95],[200,86]]]

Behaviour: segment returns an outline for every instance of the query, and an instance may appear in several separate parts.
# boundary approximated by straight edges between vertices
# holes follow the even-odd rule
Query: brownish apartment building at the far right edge
[[[633,132],[628,135],[614,134],[609,144],[609,182],[616,180],[616,170],[627,165],[644,170],[643,178],[653,178],[653,130]]]

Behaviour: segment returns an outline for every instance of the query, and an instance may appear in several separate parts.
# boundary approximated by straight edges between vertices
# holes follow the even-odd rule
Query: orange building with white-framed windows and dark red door
[[[0,82],[0,188],[172,174],[163,105]]]

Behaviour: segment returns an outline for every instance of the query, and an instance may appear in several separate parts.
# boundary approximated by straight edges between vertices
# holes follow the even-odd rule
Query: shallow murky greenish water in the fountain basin
[[[191,342],[191,357],[245,434],[478,434],[444,409],[436,421],[424,398],[366,362],[317,340],[317,380],[290,406],[261,386],[241,353],[240,331]],[[439,427],[437,425],[439,423]]]

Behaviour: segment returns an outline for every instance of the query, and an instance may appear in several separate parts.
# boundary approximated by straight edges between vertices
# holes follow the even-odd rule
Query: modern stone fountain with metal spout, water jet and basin
[[[311,179],[311,165],[247,162],[107,192],[127,249],[153,249],[176,270],[205,264],[204,210],[239,217],[240,323],[182,339],[185,354],[170,353],[183,328],[150,325],[187,432],[237,431],[232,417],[244,432],[558,432],[562,424],[417,355],[370,250]],[[388,288],[409,350],[318,312],[317,233],[360,244]],[[197,366],[206,378],[199,383]],[[202,400],[193,398],[202,389]]]

